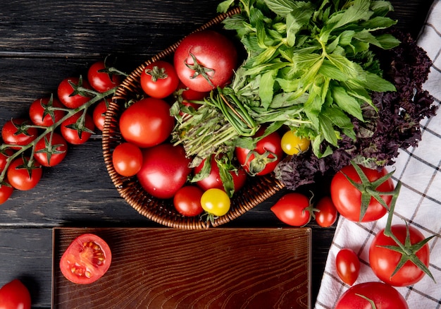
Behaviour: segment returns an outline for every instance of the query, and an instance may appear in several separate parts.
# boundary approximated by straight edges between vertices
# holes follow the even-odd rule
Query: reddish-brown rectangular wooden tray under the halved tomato
[[[60,257],[92,233],[108,272],[73,284]],[[52,308],[311,308],[311,229],[54,228]]]

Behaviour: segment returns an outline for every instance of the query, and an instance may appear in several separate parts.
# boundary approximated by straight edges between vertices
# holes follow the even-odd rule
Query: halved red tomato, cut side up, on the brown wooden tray
[[[106,241],[94,234],[82,234],[61,256],[60,269],[75,284],[91,284],[107,272],[111,261],[112,253]]]

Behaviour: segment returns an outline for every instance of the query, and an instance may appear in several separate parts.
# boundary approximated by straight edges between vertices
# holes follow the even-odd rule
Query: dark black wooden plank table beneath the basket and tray
[[[418,35],[431,0],[392,1],[398,27]],[[130,73],[140,63],[216,16],[218,1],[10,0],[0,4],[0,126],[27,116],[33,100],[58,83],[85,74],[94,61],[118,56]],[[282,226],[263,202],[226,226]],[[0,205],[0,285],[14,278],[30,289],[33,308],[51,304],[54,226],[151,226],[120,198],[101,155],[101,135],[71,146],[66,159],[44,170],[38,186],[15,191]],[[312,303],[335,226],[313,229]]]

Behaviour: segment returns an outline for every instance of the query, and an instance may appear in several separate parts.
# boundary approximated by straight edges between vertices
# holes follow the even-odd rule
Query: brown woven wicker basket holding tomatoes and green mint
[[[228,11],[228,13],[216,16],[216,18],[213,18],[209,23],[202,25],[195,31],[205,30],[214,25],[218,25],[228,16],[232,16],[239,12],[240,10],[238,8],[232,9],[231,11]],[[251,208],[259,205],[259,203],[281,190],[284,187],[283,184],[280,181],[277,181],[273,175],[249,177],[244,188],[237,192],[232,198],[231,208],[228,214],[214,219],[213,222],[207,222],[206,219],[201,217],[182,216],[175,210],[172,200],[161,200],[149,195],[139,184],[136,176],[120,176],[115,171],[112,163],[113,149],[123,142],[122,135],[119,131],[118,120],[125,109],[125,103],[131,99],[137,100],[139,95],[142,94],[142,88],[139,85],[139,76],[149,63],[165,59],[172,55],[179,43],[180,42],[176,42],[163,50],[163,52],[156,54],[156,56],[149,61],[142,63],[142,65],[125,78],[120,87],[118,87],[118,90],[116,90],[115,96],[113,97],[112,102],[110,102],[106,112],[102,141],[104,162],[106,163],[108,174],[120,195],[140,214],[154,222],[168,227],[178,229],[207,229],[211,225],[220,226],[221,224],[230,222],[232,219],[251,210]]]

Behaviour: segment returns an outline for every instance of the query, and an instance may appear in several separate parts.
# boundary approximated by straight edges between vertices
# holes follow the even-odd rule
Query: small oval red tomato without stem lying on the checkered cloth
[[[354,250],[343,248],[335,257],[337,274],[345,284],[352,286],[360,273],[360,260]]]

